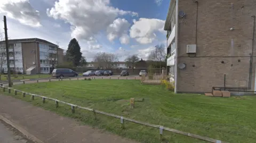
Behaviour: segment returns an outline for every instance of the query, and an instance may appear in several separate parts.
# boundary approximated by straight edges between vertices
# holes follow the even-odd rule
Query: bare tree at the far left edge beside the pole
[[[4,40],[2,33],[0,33],[0,80],[3,74],[3,64],[6,62],[6,51],[5,51],[5,44],[2,43]]]

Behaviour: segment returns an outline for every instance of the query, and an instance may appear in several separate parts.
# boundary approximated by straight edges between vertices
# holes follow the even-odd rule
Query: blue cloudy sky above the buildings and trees
[[[87,62],[99,52],[119,61],[133,54],[147,59],[166,45],[163,30],[170,0],[1,0],[8,37],[41,38],[67,49],[76,38]],[[2,22],[2,27],[4,23]],[[3,28],[0,29],[3,33]],[[3,35],[4,36],[4,35]]]

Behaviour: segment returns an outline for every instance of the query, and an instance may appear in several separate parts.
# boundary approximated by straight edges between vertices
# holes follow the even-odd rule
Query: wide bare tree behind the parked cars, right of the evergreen
[[[96,66],[96,68],[110,68],[111,65],[113,65],[113,62],[118,61],[118,58],[115,54],[111,54],[111,53],[97,53],[94,58],[93,58],[93,62],[97,63],[96,65],[94,64],[94,66]]]

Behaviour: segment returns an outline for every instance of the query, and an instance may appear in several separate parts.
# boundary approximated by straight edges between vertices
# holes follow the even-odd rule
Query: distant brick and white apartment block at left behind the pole
[[[1,41],[0,52],[2,54],[0,57],[3,59],[2,69],[6,73],[6,56],[4,56],[6,52],[4,48],[5,41]],[[9,55],[11,70],[27,74],[50,73],[53,62],[55,65],[63,62],[63,49],[39,38],[9,40]]]

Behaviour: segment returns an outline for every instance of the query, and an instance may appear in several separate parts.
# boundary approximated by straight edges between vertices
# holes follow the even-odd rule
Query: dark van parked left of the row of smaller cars
[[[63,78],[63,77],[77,77],[78,73],[71,69],[54,69],[52,71],[52,77]]]

